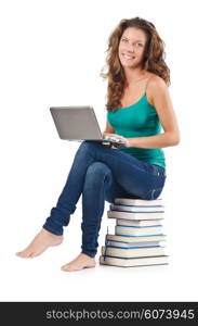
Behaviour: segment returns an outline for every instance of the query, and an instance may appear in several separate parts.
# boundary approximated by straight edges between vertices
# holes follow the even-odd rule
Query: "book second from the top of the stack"
[[[164,213],[163,206],[135,206],[135,205],[121,205],[121,204],[110,204],[110,211],[120,212],[132,212],[132,213]]]

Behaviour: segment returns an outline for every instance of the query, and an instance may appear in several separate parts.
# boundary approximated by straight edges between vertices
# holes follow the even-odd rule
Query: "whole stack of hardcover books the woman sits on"
[[[162,231],[164,206],[161,199],[117,198],[109,218],[116,218],[115,234],[106,235],[100,264],[132,267],[168,264]]]

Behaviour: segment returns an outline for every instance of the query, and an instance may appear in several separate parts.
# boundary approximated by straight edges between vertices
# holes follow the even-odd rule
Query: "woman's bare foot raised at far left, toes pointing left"
[[[41,254],[51,246],[61,244],[63,241],[63,236],[56,236],[44,228],[34,238],[30,244],[23,251],[17,252],[16,255],[21,258],[34,258]]]

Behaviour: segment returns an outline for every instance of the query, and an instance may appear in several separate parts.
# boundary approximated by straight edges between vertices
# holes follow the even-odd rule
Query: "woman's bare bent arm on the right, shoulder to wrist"
[[[163,133],[156,136],[128,138],[130,147],[155,149],[179,145],[180,130],[164,80],[158,76],[153,77],[147,91],[158,113]]]

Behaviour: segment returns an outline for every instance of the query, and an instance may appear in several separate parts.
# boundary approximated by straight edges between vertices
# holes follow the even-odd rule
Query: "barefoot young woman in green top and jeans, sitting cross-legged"
[[[62,269],[94,267],[105,200],[159,197],[166,181],[162,148],[180,141],[163,57],[163,42],[151,23],[135,17],[122,20],[115,28],[109,37],[107,72],[102,74],[108,80],[104,134],[114,134],[126,143],[118,148],[91,141],[80,145],[56,206],[18,256],[34,258],[62,243],[63,227],[69,224],[82,195],[82,250]]]

